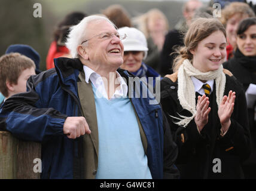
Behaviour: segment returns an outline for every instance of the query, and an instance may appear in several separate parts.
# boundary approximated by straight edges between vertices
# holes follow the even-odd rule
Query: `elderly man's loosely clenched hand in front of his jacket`
[[[68,117],[63,125],[63,133],[68,138],[77,138],[84,134],[90,134],[91,131],[84,117]]]

